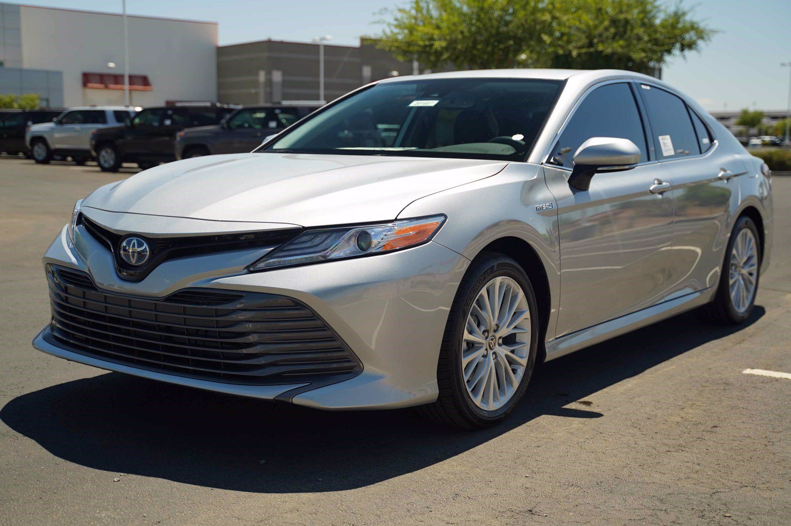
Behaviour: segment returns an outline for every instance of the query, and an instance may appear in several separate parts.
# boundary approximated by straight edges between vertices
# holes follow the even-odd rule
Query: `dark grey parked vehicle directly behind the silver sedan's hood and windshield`
[[[176,159],[216,153],[243,153],[261,146],[321,104],[254,106],[240,108],[215,126],[187,128],[176,134]]]

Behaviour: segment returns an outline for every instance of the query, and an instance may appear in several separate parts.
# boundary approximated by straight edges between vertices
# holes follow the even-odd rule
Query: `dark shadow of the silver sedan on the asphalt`
[[[747,324],[763,314],[756,306]],[[0,419],[63,460],[115,474],[263,493],[349,490],[436,464],[543,414],[600,418],[574,402],[743,328],[703,330],[687,313],[558,358],[536,371],[512,418],[481,431],[435,426],[410,410],[314,411],[119,373],[18,396]]]

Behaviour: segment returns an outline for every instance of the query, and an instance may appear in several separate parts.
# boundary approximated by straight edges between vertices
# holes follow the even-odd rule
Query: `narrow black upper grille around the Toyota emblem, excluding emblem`
[[[297,237],[302,229],[299,227],[283,230],[265,230],[263,232],[246,232],[233,234],[214,234],[210,236],[188,237],[157,237],[146,238],[151,249],[151,255],[146,264],[141,267],[129,265],[119,256],[119,245],[124,237],[131,233],[115,233],[105,229],[96,221],[81,214],[78,224],[85,227],[90,235],[104,244],[115,259],[115,271],[128,281],[139,282],[151,274],[154,268],[169,259],[176,259],[187,255],[210,254],[214,252],[227,252],[231,250],[244,250],[247,248],[278,247]],[[252,262],[251,262],[252,263]]]

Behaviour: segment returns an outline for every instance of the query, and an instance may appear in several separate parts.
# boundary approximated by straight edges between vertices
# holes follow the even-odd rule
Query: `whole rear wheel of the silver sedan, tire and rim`
[[[761,246],[758,228],[751,218],[739,218],[733,226],[720,283],[713,301],[700,312],[717,324],[740,324],[747,320],[758,293]]]

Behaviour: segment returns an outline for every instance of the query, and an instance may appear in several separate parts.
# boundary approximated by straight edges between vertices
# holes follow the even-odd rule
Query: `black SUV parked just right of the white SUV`
[[[185,128],[218,125],[237,107],[227,104],[178,104],[146,108],[123,126],[98,130],[91,151],[104,172],[118,172],[124,162],[142,169],[176,161],[176,134]]]

